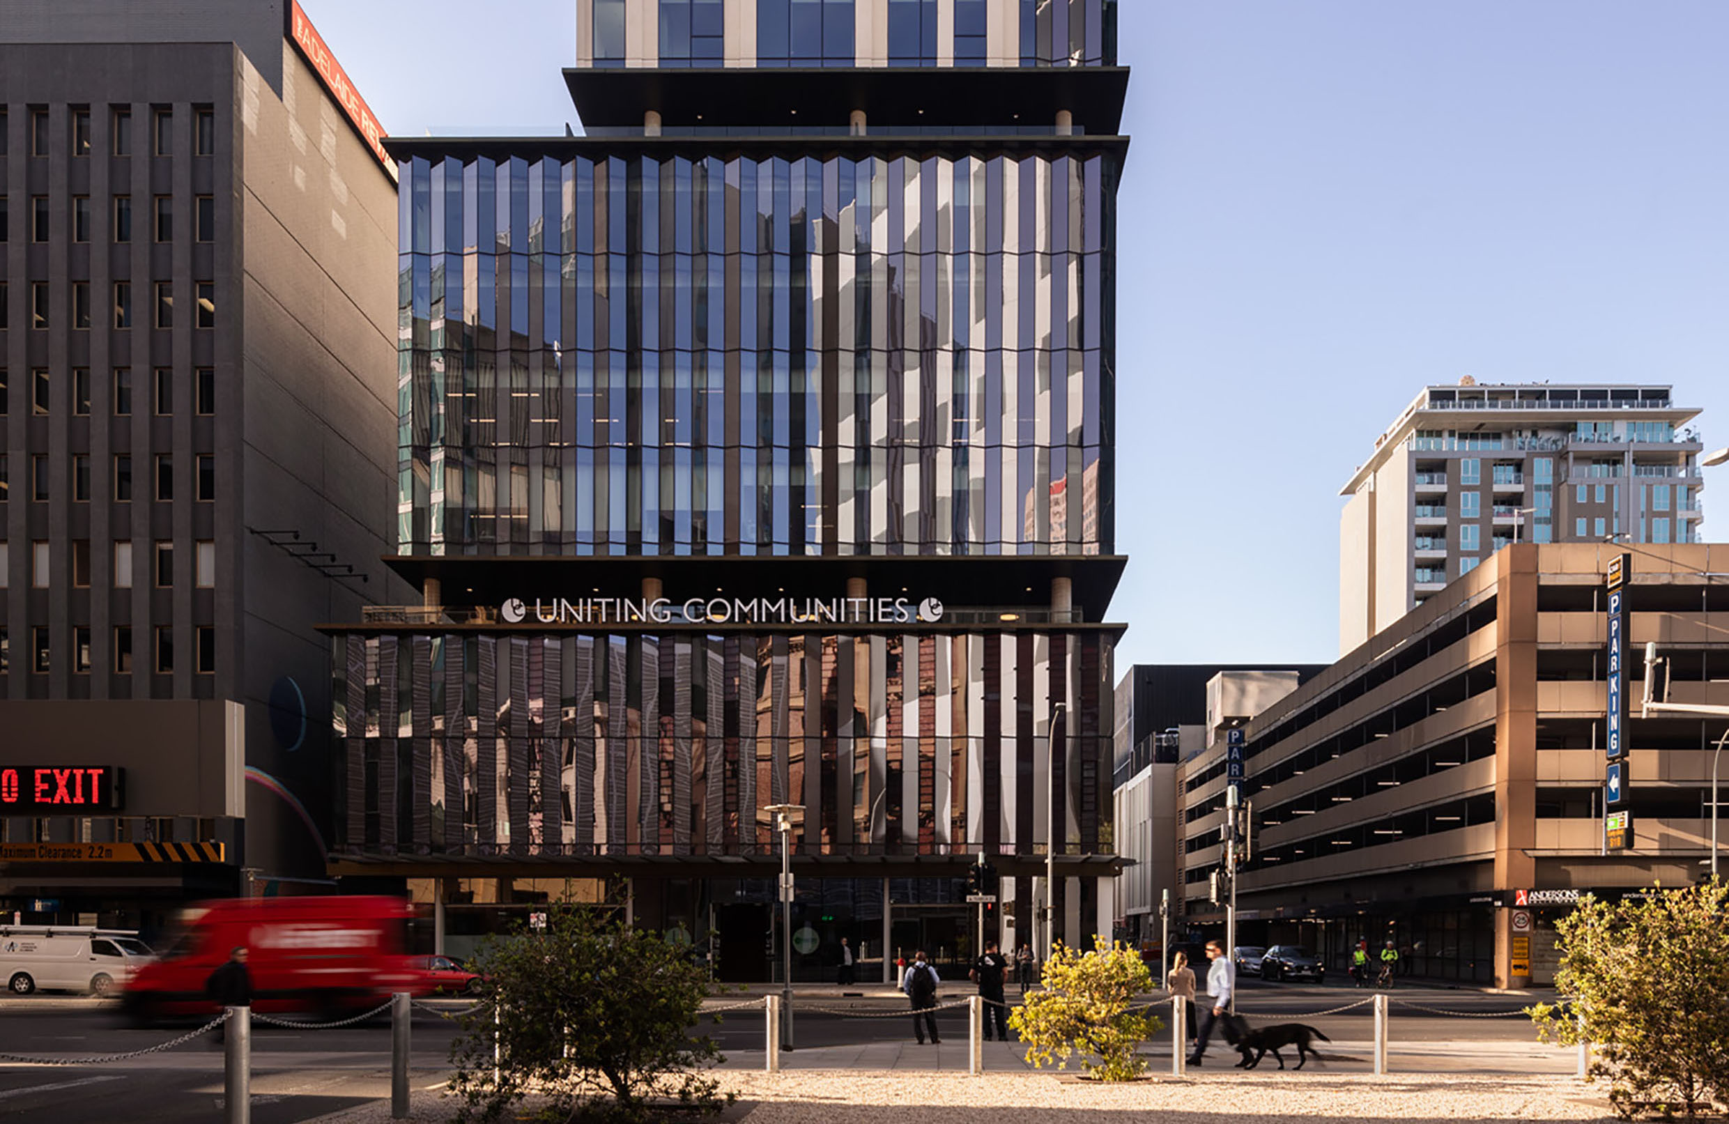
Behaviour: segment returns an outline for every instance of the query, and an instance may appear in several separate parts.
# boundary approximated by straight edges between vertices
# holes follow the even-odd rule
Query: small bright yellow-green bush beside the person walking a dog
[[[1164,1025],[1132,1008],[1152,986],[1146,961],[1127,944],[1093,937],[1091,953],[1056,944],[1044,961],[1043,987],[1025,994],[1008,1025],[1027,1043],[1034,1069],[1067,1069],[1075,1058],[1100,1081],[1132,1081],[1146,1069],[1141,1043]]]

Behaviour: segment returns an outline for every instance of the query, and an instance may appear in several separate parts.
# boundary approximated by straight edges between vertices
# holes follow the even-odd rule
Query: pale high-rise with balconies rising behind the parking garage
[[[1508,543],[1694,541],[1698,413],[1653,384],[1423,387],[1340,491],[1340,655]]]

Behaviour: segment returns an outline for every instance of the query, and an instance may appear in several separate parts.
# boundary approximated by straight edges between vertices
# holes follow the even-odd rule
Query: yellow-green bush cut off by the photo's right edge
[[[1554,986],[1527,1008],[1544,1041],[1591,1043],[1591,1079],[1624,1117],[1689,1121],[1729,1102],[1729,884],[1658,887],[1608,904],[1585,896],[1556,922]]]

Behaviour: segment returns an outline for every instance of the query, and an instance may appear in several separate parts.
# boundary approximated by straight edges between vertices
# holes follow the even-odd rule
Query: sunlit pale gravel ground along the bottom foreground
[[[1608,1100],[1573,1077],[1207,1074],[1096,1086],[1044,1074],[723,1074],[750,1105],[743,1124],[1278,1124],[1314,1121],[1611,1121]],[[745,1108],[745,1103],[740,1108]],[[911,1114],[911,1115],[908,1115]],[[325,1117],[384,1124],[389,1103]],[[415,1093],[413,1121],[443,1122],[455,1105]],[[728,1114],[738,1119],[738,1110]]]

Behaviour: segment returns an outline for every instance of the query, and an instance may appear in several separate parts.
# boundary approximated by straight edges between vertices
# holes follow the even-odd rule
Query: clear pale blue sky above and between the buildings
[[[301,2],[394,133],[574,119],[574,0]],[[1426,382],[1672,382],[1729,444],[1729,3],[1119,10],[1119,673],[1331,661],[1338,488]]]

